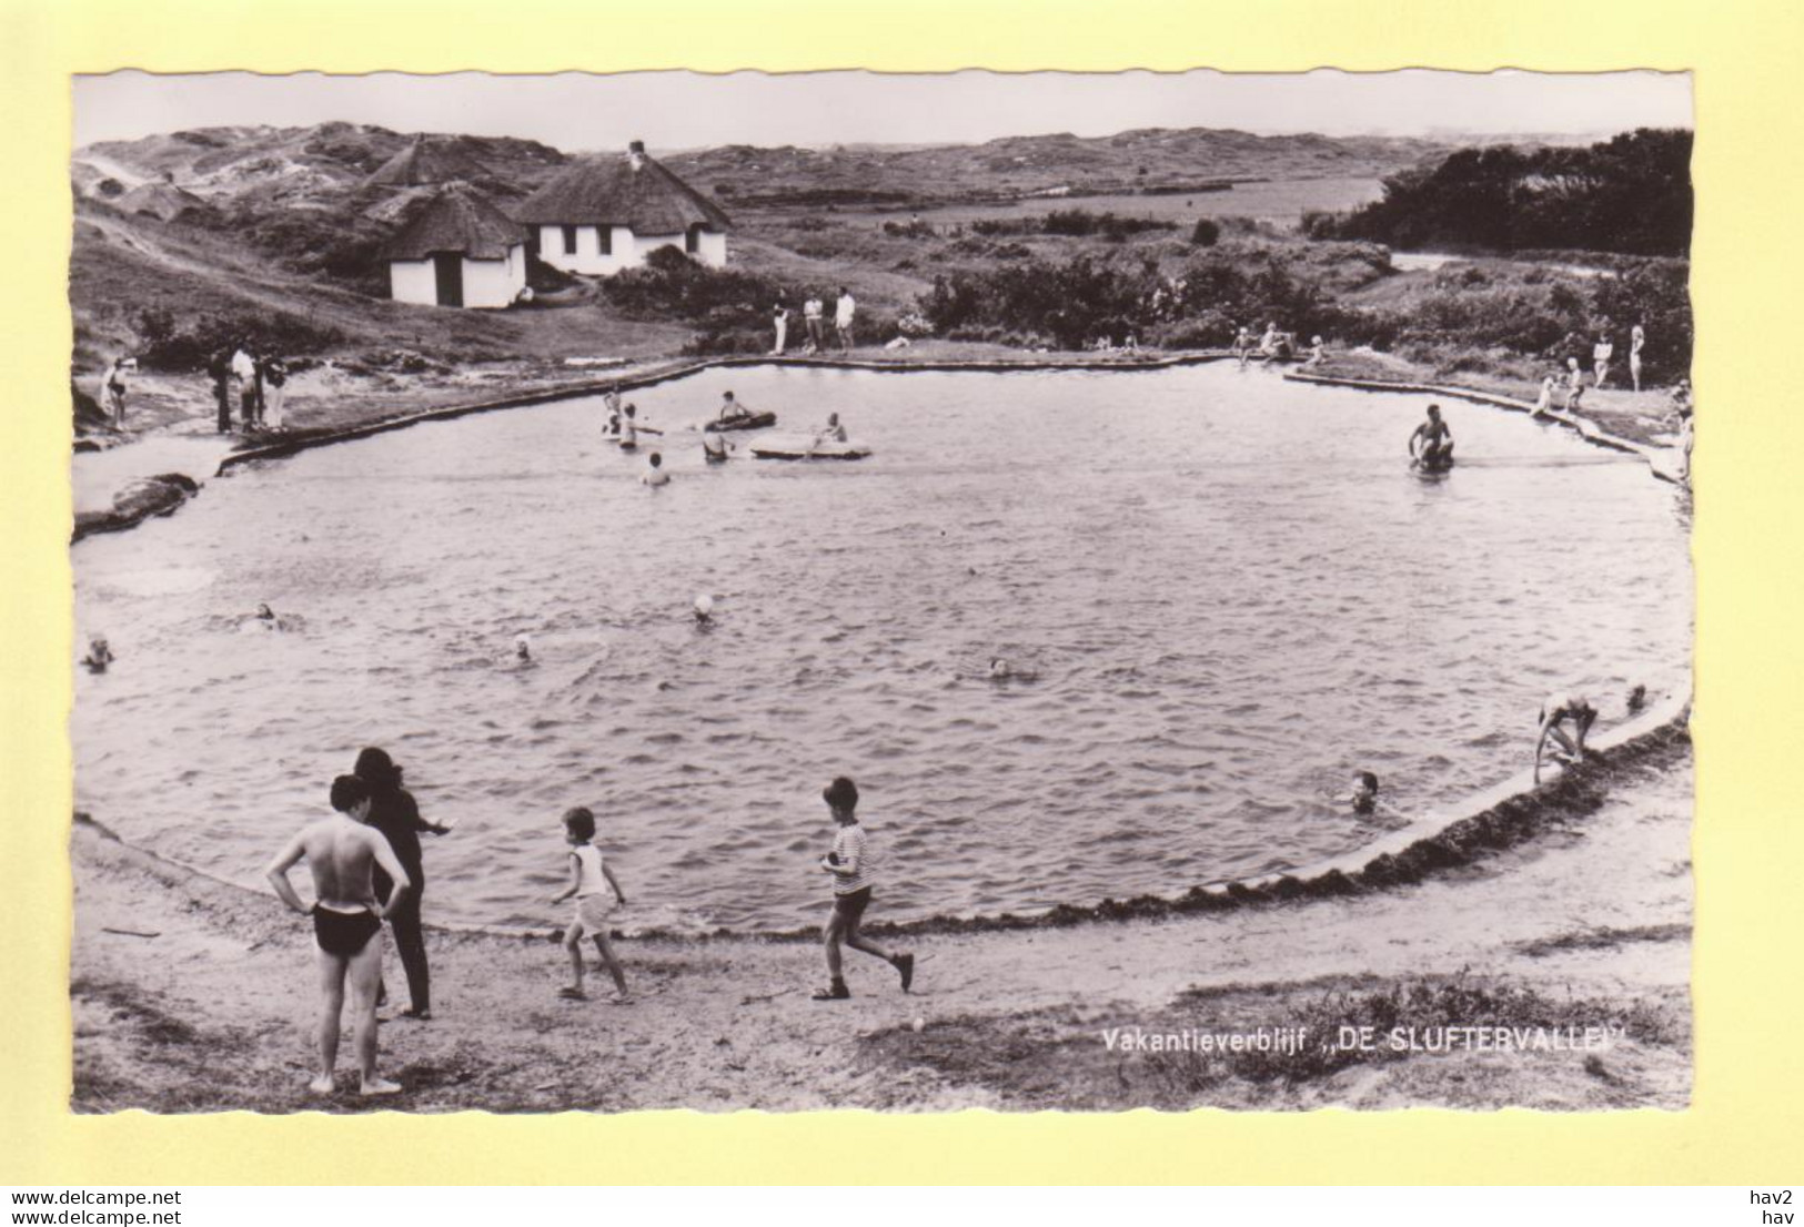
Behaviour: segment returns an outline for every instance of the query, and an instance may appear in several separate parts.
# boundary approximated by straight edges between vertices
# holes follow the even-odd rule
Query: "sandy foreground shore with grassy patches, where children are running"
[[[433,932],[437,1020],[384,1023],[384,1070],[406,1086],[384,1106],[1680,1108],[1690,1088],[1689,741],[1600,775],[1582,798],[1550,802],[1533,838],[1416,885],[1169,919],[909,933],[895,939],[920,957],[907,996],[889,968],[848,951],[855,998],[812,1002],[823,969],[808,941],[628,939],[617,946],[637,1004],[574,1004],[556,998],[556,944]],[[78,823],[72,861],[76,1110],[363,1108],[346,1090],[316,1099],[303,1088],[305,921],[92,825]],[[388,960],[399,986],[393,951]],[[1602,1040],[1322,1049],[1339,1025],[1416,1027],[1427,1047],[1447,1025],[1593,1027]],[[1297,1056],[1106,1043],[1133,1027],[1310,1027],[1313,1040]],[[346,1045],[345,1086],[355,1083],[348,1059]]]

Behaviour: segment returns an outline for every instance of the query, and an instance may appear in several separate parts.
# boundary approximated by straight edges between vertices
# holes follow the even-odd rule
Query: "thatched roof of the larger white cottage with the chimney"
[[[624,225],[633,234],[732,225],[720,205],[637,151],[584,159],[554,175],[512,213],[529,225]]]

